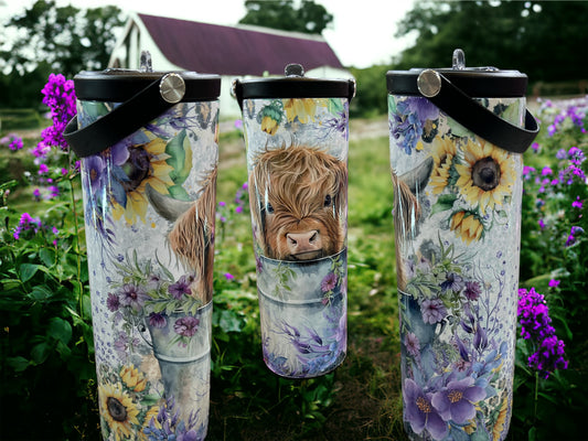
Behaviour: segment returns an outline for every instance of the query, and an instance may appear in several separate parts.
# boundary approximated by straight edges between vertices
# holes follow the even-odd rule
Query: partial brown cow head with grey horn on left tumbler
[[[170,248],[186,269],[195,272],[192,295],[206,304],[212,300],[213,286],[216,168],[203,180],[194,202],[164,196],[150,185],[146,194],[156,212],[173,224],[168,234]]]

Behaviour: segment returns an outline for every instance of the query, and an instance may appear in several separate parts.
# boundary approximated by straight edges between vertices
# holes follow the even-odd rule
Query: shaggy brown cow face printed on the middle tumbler
[[[319,149],[292,146],[257,155],[249,174],[254,235],[277,260],[332,256],[345,245],[348,169]]]

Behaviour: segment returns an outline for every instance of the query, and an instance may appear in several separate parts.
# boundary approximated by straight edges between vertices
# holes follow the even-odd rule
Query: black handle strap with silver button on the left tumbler
[[[84,128],[78,129],[77,116],[73,117],[63,137],[79,158],[97,154],[170,109],[184,93],[182,77],[167,74]]]

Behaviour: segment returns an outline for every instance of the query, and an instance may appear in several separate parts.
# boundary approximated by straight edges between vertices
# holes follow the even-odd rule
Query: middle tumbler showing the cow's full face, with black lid
[[[264,361],[288,378],[346,353],[349,103],[353,80],[236,80],[243,110]]]

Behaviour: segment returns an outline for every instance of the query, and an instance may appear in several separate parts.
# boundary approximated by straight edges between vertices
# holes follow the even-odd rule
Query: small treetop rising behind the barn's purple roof
[[[313,0],[302,0],[298,4],[295,8],[293,0],[247,0],[247,13],[239,23],[320,34],[333,21],[333,15]]]

